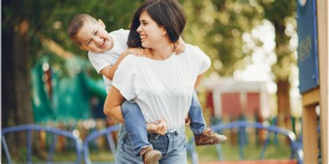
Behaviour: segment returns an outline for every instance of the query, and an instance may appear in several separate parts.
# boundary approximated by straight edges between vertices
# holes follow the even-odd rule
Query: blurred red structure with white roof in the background
[[[221,78],[207,86],[207,107],[217,118],[257,116],[269,114],[268,93],[265,82],[244,82]]]

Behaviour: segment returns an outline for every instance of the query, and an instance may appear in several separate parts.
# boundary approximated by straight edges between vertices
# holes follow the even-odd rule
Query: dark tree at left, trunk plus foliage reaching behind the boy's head
[[[103,19],[109,31],[128,28],[133,12],[142,1],[4,0],[2,1],[2,128],[33,123],[31,67],[51,53],[43,45],[51,39],[74,54],[83,55],[67,37],[71,18],[87,13]],[[60,57],[52,57],[54,61]],[[69,68],[63,68],[69,69]],[[25,145],[24,135],[8,137],[11,147]],[[14,154],[17,151],[14,150]]]

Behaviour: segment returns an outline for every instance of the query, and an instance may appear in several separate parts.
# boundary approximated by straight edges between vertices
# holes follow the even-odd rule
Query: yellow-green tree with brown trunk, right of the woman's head
[[[288,127],[291,115],[289,80],[296,57],[294,49],[289,48],[291,36],[285,30],[287,24],[296,24],[296,1],[185,0],[183,6],[188,17],[183,37],[210,55],[212,68],[208,72],[222,76],[232,76],[235,70],[251,63],[249,56],[253,51],[243,51],[243,33],[260,25],[263,19],[272,22],[276,33],[277,62],[273,64],[272,72],[278,86],[278,122]],[[259,40],[255,42],[256,46],[262,46]]]

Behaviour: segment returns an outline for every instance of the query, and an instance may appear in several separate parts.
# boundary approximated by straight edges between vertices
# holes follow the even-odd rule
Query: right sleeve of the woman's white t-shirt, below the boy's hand
[[[199,66],[199,75],[205,73],[210,68],[211,60],[208,55],[205,55],[203,51],[198,46],[191,47],[192,53],[194,53],[194,60],[196,60],[196,65]]]

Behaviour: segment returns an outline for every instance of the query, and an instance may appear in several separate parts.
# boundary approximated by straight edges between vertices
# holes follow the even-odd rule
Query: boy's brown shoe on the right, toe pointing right
[[[226,140],[226,136],[214,133],[210,128],[206,128],[201,134],[195,135],[196,146],[219,144]]]

